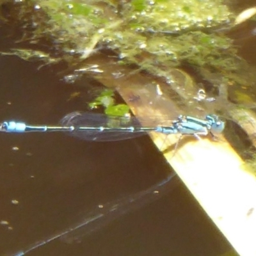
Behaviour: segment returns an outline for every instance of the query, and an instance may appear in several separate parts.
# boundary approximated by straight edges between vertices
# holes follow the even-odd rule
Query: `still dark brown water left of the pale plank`
[[[7,56],[0,65],[0,120],[57,124],[65,114],[86,109],[84,99],[68,99],[77,91],[86,98],[87,89],[61,82],[51,67],[38,71],[35,63]],[[98,207],[122,206],[118,199],[127,196],[136,200],[172,173],[147,136],[93,143],[65,134],[3,133],[0,141],[0,255],[29,248],[99,212],[100,221],[28,255],[216,256],[230,250],[178,179],[163,189],[164,196],[154,195],[157,200],[137,198],[131,209],[125,204],[113,214]]]

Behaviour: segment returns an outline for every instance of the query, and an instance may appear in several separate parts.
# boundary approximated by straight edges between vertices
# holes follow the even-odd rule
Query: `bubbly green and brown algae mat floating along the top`
[[[17,49],[9,52],[24,60],[64,61],[69,70],[83,70],[107,49],[120,67],[135,65],[168,82],[175,80],[173,70],[188,65],[207,81],[214,77],[214,86],[236,84],[239,95],[239,86],[254,84],[256,72],[221,33],[235,19],[221,0],[1,1],[3,26],[19,29]]]

